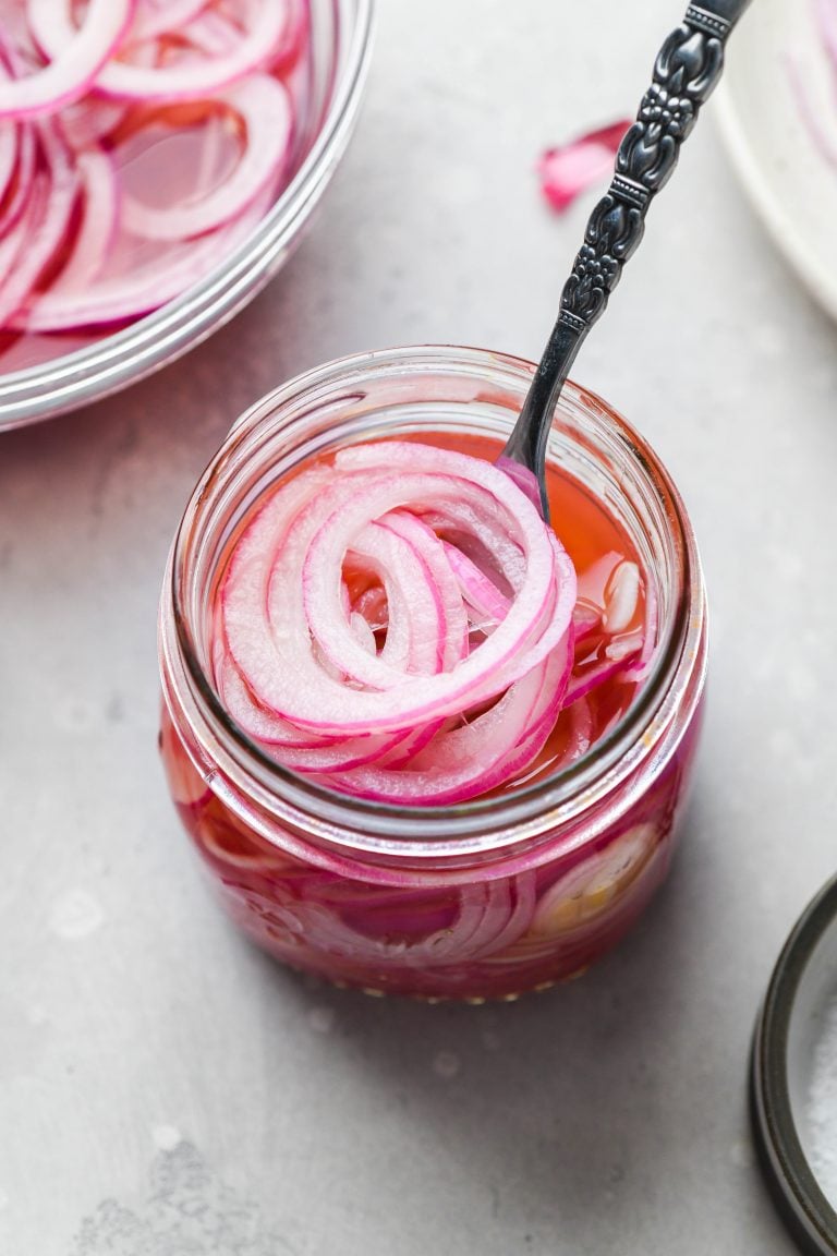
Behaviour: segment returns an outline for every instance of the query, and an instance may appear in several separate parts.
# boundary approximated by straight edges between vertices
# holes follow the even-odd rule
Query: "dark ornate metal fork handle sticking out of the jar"
[[[552,411],[590,328],[601,318],[622,268],[645,230],[645,215],[676,166],[680,144],[712,94],[724,65],[724,44],[749,0],[690,5],[654,64],[654,80],[636,122],[616,153],[610,188],[587,221],[561,294],[561,313],[503,451],[542,479]],[[545,517],[547,504],[542,496]]]

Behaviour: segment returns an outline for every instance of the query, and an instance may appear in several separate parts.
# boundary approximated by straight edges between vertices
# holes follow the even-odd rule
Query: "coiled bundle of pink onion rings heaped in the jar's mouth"
[[[237,541],[216,687],[286,767],[378,801],[457,803],[543,749],[575,602],[566,551],[492,463],[349,447],[281,485]]]

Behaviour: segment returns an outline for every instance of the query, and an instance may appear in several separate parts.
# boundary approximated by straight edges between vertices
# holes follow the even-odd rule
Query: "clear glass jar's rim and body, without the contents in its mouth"
[[[683,502],[649,446],[567,384],[548,458],[627,533],[656,599],[650,674],[620,721],[535,784],[452,806],[336,794],[269,759],[211,683],[212,605],[265,489],[351,442],[423,433],[499,450],[533,367],[476,349],[371,353],[259,402],[202,476],[163,588],[161,745],[181,819],[232,919],[280,960],[368,992],[482,1001],[577,976],[666,875],[706,663]]]

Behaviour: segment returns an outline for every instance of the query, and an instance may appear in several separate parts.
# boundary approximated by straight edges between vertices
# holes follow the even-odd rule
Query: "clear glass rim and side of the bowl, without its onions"
[[[309,0],[309,102],[296,170],[256,230],[208,275],[131,325],[3,373],[0,432],[118,392],[186,353],[242,309],[287,260],[343,156],[371,48],[373,0]]]

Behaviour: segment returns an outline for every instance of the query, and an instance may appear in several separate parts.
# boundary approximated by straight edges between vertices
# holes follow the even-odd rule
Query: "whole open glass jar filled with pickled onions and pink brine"
[[[497,468],[530,363],[349,358],[232,428],[161,608],[169,789],[221,902],[343,985],[509,999],[665,878],[705,599],[683,502],[567,384],[552,528]]]

